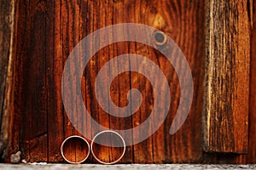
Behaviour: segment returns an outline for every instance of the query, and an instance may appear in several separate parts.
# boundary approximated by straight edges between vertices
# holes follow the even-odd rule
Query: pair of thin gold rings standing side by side
[[[115,136],[117,136],[120,139],[120,141],[123,143],[123,146],[124,146],[121,155],[118,156],[113,161],[103,161],[98,156],[96,156],[97,151],[95,150],[96,147],[94,147],[94,145],[97,144],[96,140],[101,139],[102,138],[101,135],[103,135],[104,133],[109,133],[109,134],[113,133]],[[79,144],[76,145],[75,142],[79,142]],[[70,159],[68,156],[68,153],[64,153],[64,150],[67,150],[68,147],[70,150],[73,150],[73,148],[75,148],[76,150],[82,151],[82,153],[83,153],[82,156],[80,156],[78,160]],[[67,161],[69,163],[79,164],[79,163],[84,162],[90,156],[90,152],[91,152],[92,156],[96,159],[96,161],[98,161],[102,164],[107,164],[107,165],[114,164],[114,163],[120,161],[120,159],[122,159],[122,157],[125,155],[125,140],[119,133],[116,133],[112,130],[105,130],[100,133],[97,133],[96,136],[91,140],[90,144],[87,141],[87,139],[84,139],[83,137],[78,136],[78,135],[73,135],[73,136],[67,137],[67,139],[64,139],[61,144],[61,156],[64,158],[65,161]]]

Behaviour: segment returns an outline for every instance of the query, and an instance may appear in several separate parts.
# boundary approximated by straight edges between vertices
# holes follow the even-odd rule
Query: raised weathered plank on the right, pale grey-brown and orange
[[[250,8],[206,3],[204,150],[247,153]]]

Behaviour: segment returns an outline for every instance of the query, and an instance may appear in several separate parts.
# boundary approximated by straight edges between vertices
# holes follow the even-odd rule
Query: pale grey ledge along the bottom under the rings
[[[161,169],[180,169],[180,170],[198,170],[198,169],[256,169],[254,165],[200,165],[200,164],[119,164],[119,165],[97,165],[97,164],[0,164],[0,170],[119,170],[119,169],[131,169],[131,170],[161,170]]]

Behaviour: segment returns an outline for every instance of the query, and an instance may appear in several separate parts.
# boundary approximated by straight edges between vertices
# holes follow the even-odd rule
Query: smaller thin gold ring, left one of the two
[[[71,161],[67,158],[67,156],[65,156],[64,150],[65,150],[65,146],[68,142],[72,142],[72,139],[77,139],[83,142],[83,144],[85,144],[85,147],[88,148],[88,150],[84,150],[84,158],[81,161]],[[61,156],[64,158],[65,161],[69,162],[69,163],[75,163],[75,164],[79,164],[82,163],[83,161],[85,161],[88,156],[90,155],[90,144],[88,143],[88,141],[80,136],[77,135],[73,135],[73,136],[69,136],[67,137],[67,139],[65,139],[62,144],[61,144]]]

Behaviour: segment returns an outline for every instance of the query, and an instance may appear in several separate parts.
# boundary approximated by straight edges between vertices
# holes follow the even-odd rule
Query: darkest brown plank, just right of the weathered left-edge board
[[[45,3],[20,1],[20,8],[20,26],[24,29],[20,29],[22,33],[17,37],[19,63],[15,68],[22,74],[15,86],[21,86],[17,106],[22,117],[22,156],[26,161],[48,161]]]

